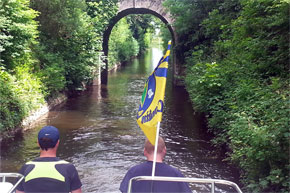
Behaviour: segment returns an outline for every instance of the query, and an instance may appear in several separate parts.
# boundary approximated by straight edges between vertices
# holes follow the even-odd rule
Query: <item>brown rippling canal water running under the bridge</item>
[[[93,86],[50,111],[34,128],[1,148],[1,172],[17,172],[38,156],[37,133],[44,125],[60,129],[58,156],[79,171],[83,192],[119,192],[126,171],[145,160],[145,137],[136,123],[144,83],[162,56],[160,48],[148,50],[109,75],[107,86]],[[169,73],[170,74],[170,73]],[[186,177],[221,178],[238,182],[238,171],[222,161],[201,116],[192,110],[184,88],[167,82],[161,136],[165,138],[165,162]],[[192,186],[193,192],[209,187]],[[220,192],[227,192],[223,187]]]

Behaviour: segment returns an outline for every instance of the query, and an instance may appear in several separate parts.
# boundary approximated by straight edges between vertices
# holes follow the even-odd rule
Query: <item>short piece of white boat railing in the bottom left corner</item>
[[[11,182],[7,181],[8,178],[16,178],[17,182],[13,185]],[[18,184],[24,179],[24,176],[18,173],[0,173],[0,179],[0,192],[12,193],[15,191]]]

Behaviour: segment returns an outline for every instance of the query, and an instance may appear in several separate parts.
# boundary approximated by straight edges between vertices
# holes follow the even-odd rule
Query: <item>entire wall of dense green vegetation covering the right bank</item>
[[[289,1],[166,0],[195,110],[246,192],[289,192]]]

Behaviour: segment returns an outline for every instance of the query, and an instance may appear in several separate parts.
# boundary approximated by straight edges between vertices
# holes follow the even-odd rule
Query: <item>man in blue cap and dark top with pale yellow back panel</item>
[[[43,127],[38,133],[38,145],[40,156],[22,166],[19,173],[25,179],[18,185],[16,193],[81,193],[82,183],[74,165],[56,157],[58,129],[53,126]]]

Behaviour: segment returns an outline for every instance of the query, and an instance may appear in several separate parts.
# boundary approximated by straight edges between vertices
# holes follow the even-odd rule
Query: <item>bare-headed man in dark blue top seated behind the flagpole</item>
[[[163,138],[158,138],[158,148],[156,156],[156,169],[155,176],[167,176],[167,177],[184,177],[183,174],[176,168],[173,168],[165,163],[163,159],[166,154],[166,146]],[[145,141],[144,155],[147,161],[139,165],[133,166],[126,173],[120,184],[120,191],[122,193],[127,192],[128,184],[131,178],[136,176],[151,176],[152,165],[154,158],[154,146],[149,142],[148,139]],[[189,188],[188,183],[185,182],[161,182],[161,181],[133,181],[132,192],[192,192]]]

